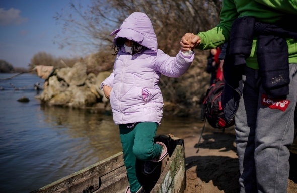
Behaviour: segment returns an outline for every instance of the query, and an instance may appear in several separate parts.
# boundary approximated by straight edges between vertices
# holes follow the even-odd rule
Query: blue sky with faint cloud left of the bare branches
[[[68,9],[70,0],[0,0],[0,60],[28,68],[38,52],[54,57],[78,57],[71,48],[60,49],[54,41],[62,35],[56,13]],[[89,1],[81,1],[86,4]]]

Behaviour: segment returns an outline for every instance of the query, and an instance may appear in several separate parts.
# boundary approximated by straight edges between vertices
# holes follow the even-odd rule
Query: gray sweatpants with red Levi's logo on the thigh
[[[243,95],[235,115],[236,145],[243,192],[286,192],[289,150],[294,137],[297,64],[289,64],[286,99],[269,99],[258,70],[246,67]]]

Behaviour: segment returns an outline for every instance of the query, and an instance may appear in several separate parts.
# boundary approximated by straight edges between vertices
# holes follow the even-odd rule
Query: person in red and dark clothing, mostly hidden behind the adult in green
[[[220,55],[220,47],[209,50],[209,56],[207,57],[206,72],[211,74],[210,85],[213,84],[217,78],[217,72],[220,65],[218,56]]]

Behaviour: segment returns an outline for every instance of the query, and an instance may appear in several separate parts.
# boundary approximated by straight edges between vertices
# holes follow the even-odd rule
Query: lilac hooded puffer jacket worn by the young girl
[[[153,25],[144,13],[132,13],[112,35],[133,40],[148,49],[133,56],[122,46],[116,56],[113,72],[101,83],[112,87],[110,104],[115,124],[156,122],[160,125],[163,97],[158,86],[161,74],[179,77],[191,65],[194,54],[181,51],[170,57],[157,49]]]

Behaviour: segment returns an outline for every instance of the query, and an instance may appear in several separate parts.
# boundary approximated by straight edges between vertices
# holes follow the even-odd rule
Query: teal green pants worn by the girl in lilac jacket
[[[141,187],[136,177],[136,158],[148,161],[161,155],[161,146],[154,143],[157,127],[155,122],[119,125],[131,193],[137,192]]]

